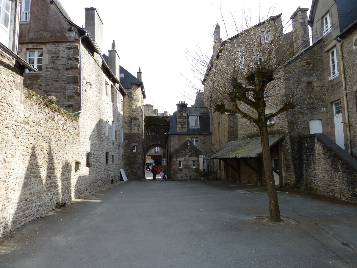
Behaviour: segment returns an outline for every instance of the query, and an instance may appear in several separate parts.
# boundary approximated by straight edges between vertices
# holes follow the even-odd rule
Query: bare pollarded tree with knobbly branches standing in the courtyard
[[[268,189],[270,219],[281,221],[276,186],[271,165],[267,121],[294,109],[301,96],[284,90],[288,79],[288,61],[301,52],[302,43],[293,42],[293,33],[284,35],[281,14],[248,27],[221,41],[213,36],[213,55],[190,55],[197,77],[204,77],[206,105],[215,112],[238,113],[255,123],[262,145],[264,174]],[[216,30],[217,31],[217,26]],[[243,108],[244,107],[244,108]],[[267,108],[274,112],[266,113]]]

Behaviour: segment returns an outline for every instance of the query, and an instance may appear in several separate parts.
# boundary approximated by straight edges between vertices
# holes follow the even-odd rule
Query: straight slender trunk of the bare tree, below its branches
[[[268,198],[269,198],[269,214],[270,219],[273,222],[281,222],[280,209],[278,203],[278,195],[276,193],[271,157],[270,157],[270,146],[268,137],[268,128],[266,122],[258,125],[260,130],[260,138],[262,142],[262,155],[263,155],[263,166],[264,174],[267,182]]]

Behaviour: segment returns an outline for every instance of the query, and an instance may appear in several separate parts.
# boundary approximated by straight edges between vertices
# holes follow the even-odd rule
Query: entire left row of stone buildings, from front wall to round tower
[[[85,30],[57,0],[11,0],[9,8],[0,27],[0,237],[119,182],[133,143],[141,177],[126,171],[141,179],[144,169],[144,86],[137,78],[128,93],[120,85],[114,42],[105,61],[97,10],[85,9]]]

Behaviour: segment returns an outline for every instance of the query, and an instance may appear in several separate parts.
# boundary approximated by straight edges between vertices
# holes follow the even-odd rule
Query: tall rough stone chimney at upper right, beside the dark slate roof
[[[294,47],[300,53],[303,49],[310,46],[310,36],[308,27],[308,8],[301,8],[300,6],[291,15],[292,20],[292,31],[293,31],[293,42]]]

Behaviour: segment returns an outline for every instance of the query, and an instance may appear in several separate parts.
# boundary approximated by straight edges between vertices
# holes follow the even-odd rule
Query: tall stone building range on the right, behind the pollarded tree
[[[353,153],[355,139],[351,137],[356,135],[350,123],[356,120],[352,117],[352,114],[356,114],[356,68],[353,60],[357,51],[353,43],[353,38],[356,38],[356,18],[355,14],[347,10],[357,5],[355,1],[348,5],[343,4],[346,1],[327,2],[313,1],[309,20],[308,9],[299,7],[291,16],[292,32],[283,35],[285,40],[292,42],[294,55],[282,64],[281,73],[284,70],[290,71],[284,74],[280,84],[271,84],[270,95],[296,94],[299,99],[293,110],[267,122],[271,135],[271,162],[278,186],[305,188],[356,202],[357,162],[348,154],[348,148]],[[339,20],[338,16],[343,19]],[[277,25],[281,23],[280,15],[269,20]],[[311,46],[308,23],[313,33]],[[235,37],[222,42],[217,25],[214,38],[212,59],[227,62],[224,46]],[[339,46],[342,47],[340,52]],[[278,47],[276,51],[279,53],[283,49]],[[340,75],[338,70],[341,70]],[[347,73],[349,77],[344,78]],[[211,105],[212,100],[208,95],[213,86],[209,79],[212,75],[217,74],[213,68],[208,68],[203,80],[207,106]],[[268,101],[266,114],[279,109],[274,98]],[[348,109],[345,109],[346,104]],[[251,111],[243,104],[238,103],[238,106],[246,112]],[[348,110],[350,121],[345,117]],[[211,118],[215,152],[207,158],[216,159],[214,169],[217,176],[237,182],[264,184],[261,157],[252,151],[261,146],[257,139],[257,126],[235,113],[214,113]],[[339,149],[338,145],[346,148],[347,153]],[[326,173],[326,170],[329,172]]]

